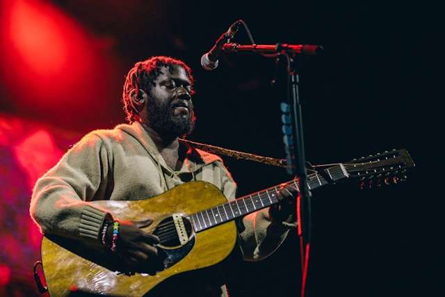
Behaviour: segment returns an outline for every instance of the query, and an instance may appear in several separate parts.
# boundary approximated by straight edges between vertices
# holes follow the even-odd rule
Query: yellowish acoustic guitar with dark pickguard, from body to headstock
[[[309,190],[348,179],[369,179],[379,186],[405,179],[414,168],[407,150],[394,150],[338,163],[308,175]],[[296,180],[287,182],[298,188]],[[215,186],[207,182],[187,182],[159,196],[138,201],[91,202],[110,210],[119,220],[154,223],[144,228],[159,236],[157,246],[165,256],[156,273],[147,268],[126,271],[118,257],[86,246],[80,241],[47,234],[42,240],[42,265],[50,296],[68,296],[79,290],[106,296],[179,296],[190,287],[219,286],[229,280],[240,262],[234,220],[277,203],[280,186],[227,202]],[[203,286],[203,287],[200,287]]]

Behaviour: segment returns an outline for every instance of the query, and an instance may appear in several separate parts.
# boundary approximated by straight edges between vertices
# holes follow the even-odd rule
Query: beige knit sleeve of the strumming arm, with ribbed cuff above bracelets
[[[88,201],[106,191],[109,157],[102,139],[89,134],[38,179],[30,213],[40,232],[97,242],[112,214]]]

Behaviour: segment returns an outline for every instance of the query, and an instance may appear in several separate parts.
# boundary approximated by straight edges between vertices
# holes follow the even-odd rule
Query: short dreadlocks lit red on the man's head
[[[127,120],[130,124],[140,120],[138,111],[131,102],[131,94],[134,92],[137,97],[140,97],[142,96],[141,90],[149,94],[152,86],[155,86],[154,81],[161,74],[161,68],[168,67],[168,70],[172,73],[174,65],[183,67],[188,80],[193,84],[193,75],[191,74],[190,67],[180,60],[166,56],[153,56],[146,61],[140,61],[128,72],[121,101],[124,104],[124,111],[127,113]],[[191,94],[193,93],[194,91],[192,90]]]

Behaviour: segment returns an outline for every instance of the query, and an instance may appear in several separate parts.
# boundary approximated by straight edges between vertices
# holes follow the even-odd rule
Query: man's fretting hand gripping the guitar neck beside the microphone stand
[[[269,207],[269,218],[274,225],[296,221],[298,192],[296,188],[289,184],[281,185],[280,191],[277,192],[278,203]]]

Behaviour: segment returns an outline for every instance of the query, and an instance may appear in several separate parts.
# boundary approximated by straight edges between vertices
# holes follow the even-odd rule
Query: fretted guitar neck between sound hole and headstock
[[[341,179],[348,177],[348,172],[343,164],[327,168],[321,172],[315,172],[307,176],[307,187],[309,190],[314,190],[320,186],[338,182]],[[298,188],[297,181],[291,180],[286,182]],[[280,191],[280,186],[273,186],[266,188],[266,190],[259,191],[244,197],[229,201],[225,204],[220,204],[210,209],[192,214],[191,221],[195,232],[207,230],[216,225],[220,225],[235,218],[251,214],[259,209],[264,209],[278,202],[277,191]]]

